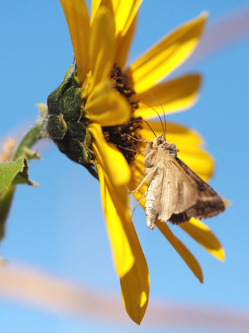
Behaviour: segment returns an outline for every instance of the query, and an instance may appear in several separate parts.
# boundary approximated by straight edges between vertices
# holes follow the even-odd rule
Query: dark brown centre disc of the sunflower
[[[113,84],[113,87],[122,94],[126,100],[129,102],[132,114],[138,108],[138,101],[131,101],[130,98],[135,94],[134,90],[128,85],[128,77],[123,74],[121,69],[117,64],[114,64],[114,67],[109,75],[109,79]],[[120,110],[119,112],[122,112]],[[142,118],[133,118],[131,117],[130,122],[136,120],[142,120]],[[114,145],[117,145],[117,148],[122,152],[126,161],[130,164],[134,161],[136,152],[138,150],[139,142],[134,140],[141,139],[137,134],[136,130],[141,128],[141,122],[134,122],[131,124],[120,124],[119,126],[109,126],[102,127],[105,140],[111,142]],[[131,137],[130,137],[131,136]],[[130,149],[130,150],[128,150]]]

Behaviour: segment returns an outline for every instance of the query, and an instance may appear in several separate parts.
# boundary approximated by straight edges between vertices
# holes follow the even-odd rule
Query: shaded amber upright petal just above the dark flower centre
[[[117,39],[117,47],[116,47],[116,53],[114,57],[114,62],[117,64],[121,69],[124,69],[124,66],[127,61],[128,53],[130,44],[132,42],[134,30],[136,27],[136,19],[133,20],[131,23],[129,29],[127,30],[126,34],[124,36],[121,36]]]

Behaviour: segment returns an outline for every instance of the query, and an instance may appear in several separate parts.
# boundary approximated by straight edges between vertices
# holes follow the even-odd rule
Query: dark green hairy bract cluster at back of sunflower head
[[[62,153],[98,177],[91,163],[94,157],[89,153],[92,138],[85,126],[88,121],[81,106],[81,90],[75,73],[70,78],[69,73],[68,70],[62,84],[47,98],[46,130]]]

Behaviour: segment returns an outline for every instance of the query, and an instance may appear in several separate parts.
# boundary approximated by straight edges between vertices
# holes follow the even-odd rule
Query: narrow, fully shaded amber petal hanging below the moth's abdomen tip
[[[175,248],[175,250],[180,254],[195,276],[203,282],[203,274],[202,269],[193,256],[193,254],[187,249],[187,247],[174,236],[173,232],[170,230],[166,222],[161,222],[159,220],[156,221],[156,226],[162,232],[162,234],[168,239],[170,244]]]

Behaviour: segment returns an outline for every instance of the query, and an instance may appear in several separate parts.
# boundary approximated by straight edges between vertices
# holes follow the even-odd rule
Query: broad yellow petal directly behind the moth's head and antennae
[[[148,122],[156,135],[163,133],[160,122]],[[154,134],[146,124],[138,131],[143,140],[154,140]],[[200,135],[192,130],[180,125],[166,123],[166,139],[174,143],[180,150],[178,157],[183,160],[195,173],[203,180],[207,181],[214,168],[211,156],[202,148],[203,140]]]

